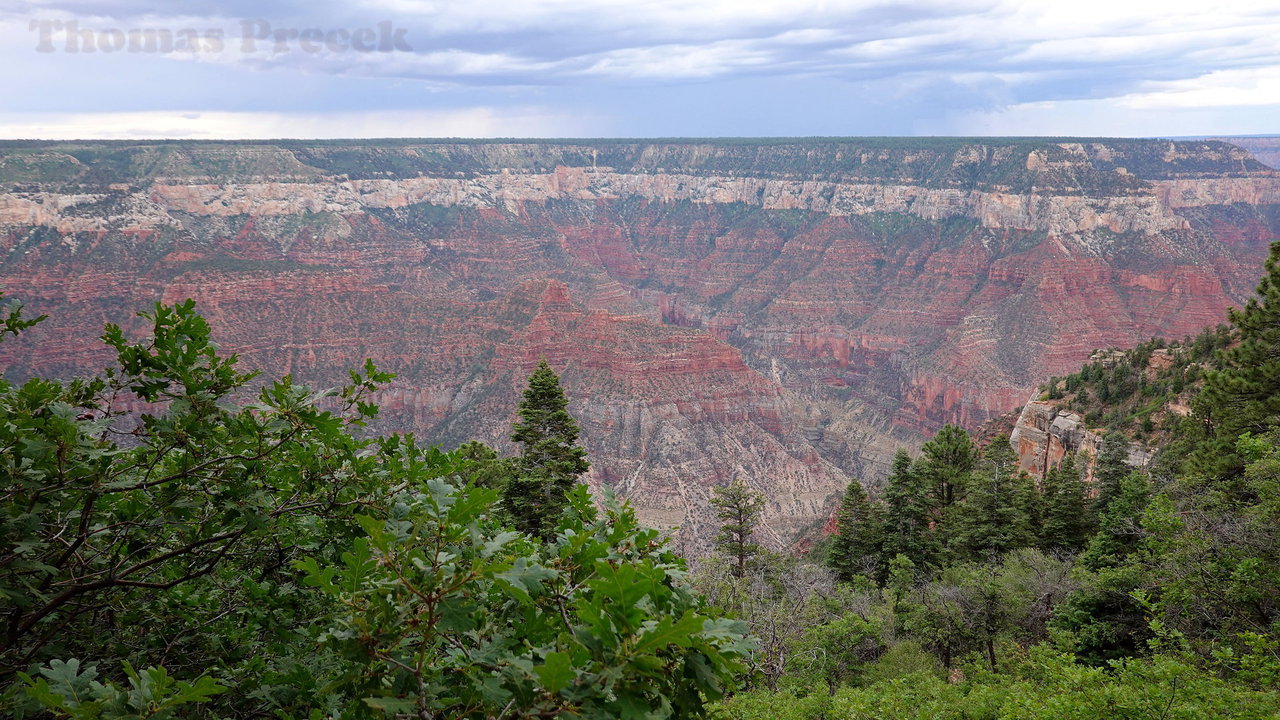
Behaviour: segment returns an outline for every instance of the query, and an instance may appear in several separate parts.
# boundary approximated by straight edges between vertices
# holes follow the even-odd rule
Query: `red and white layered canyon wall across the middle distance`
[[[699,546],[710,487],[776,542],[895,445],[1025,402],[1094,347],[1222,318],[1280,176],[1217,142],[0,145],[15,377],[195,297],[246,361],[399,374],[384,424],[504,443],[539,356],[591,480]]]

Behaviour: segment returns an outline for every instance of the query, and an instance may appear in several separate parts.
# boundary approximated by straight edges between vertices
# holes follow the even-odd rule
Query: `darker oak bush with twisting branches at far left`
[[[274,623],[246,606],[289,606],[291,559],[340,538],[380,479],[346,428],[390,375],[370,364],[333,391],[284,378],[236,405],[252,374],[218,355],[189,301],[145,318],[143,342],[108,327],[118,368],[104,375],[0,391],[3,673],[67,656],[216,665],[201,637],[165,637],[188,621],[239,637],[227,660],[244,657],[262,638],[233,628]],[[129,414],[131,396],[152,410]]]

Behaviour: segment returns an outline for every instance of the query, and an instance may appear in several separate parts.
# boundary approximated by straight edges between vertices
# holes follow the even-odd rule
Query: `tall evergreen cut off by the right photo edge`
[[[1280,427],[1280,242],[1271,243],[1257,297],[1229,314],[1239,343],[1222,350],[1220,370],[1204,378],[1194,409],[1207,437],[1190,457],[1196,479],[1236,479],[1244,459],[1235,442]]]

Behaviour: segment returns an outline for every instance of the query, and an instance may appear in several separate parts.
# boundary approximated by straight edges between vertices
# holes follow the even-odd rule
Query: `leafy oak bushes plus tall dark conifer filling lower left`
[[[529,534],[484,446],[358,432],[390,379],[371,363],[252,397],[192,302],[143,316],[140,342],[106,328],[101,375],[0,382],[6,715],[690,717],[733,685],[744,626],[571,482],[548,369],[511,461],[557,488]],[[9,305],[0,337],[41,319]]]

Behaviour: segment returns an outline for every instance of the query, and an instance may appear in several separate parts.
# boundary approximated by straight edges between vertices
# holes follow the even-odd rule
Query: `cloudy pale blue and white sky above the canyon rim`
[[[4,0],[0,137],[1280,133],[1280,0]]]

